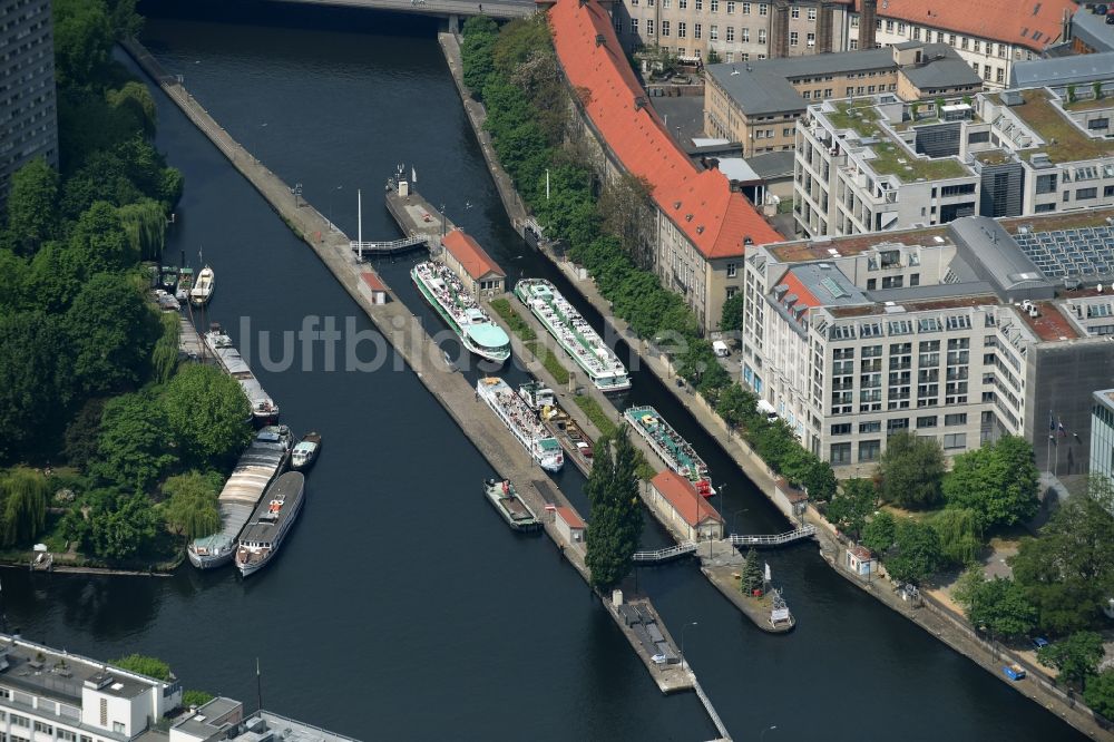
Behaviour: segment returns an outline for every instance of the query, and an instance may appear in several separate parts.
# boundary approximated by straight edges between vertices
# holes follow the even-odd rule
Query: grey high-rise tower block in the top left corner
[[[36,157],[58,167],[50,0],[0,0],[0,207]]]

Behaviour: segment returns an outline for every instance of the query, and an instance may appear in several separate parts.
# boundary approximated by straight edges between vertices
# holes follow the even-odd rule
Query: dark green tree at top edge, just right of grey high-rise
[[[113,27],[104,0],[55,0],[58,85],[89,85],[108,64]]]

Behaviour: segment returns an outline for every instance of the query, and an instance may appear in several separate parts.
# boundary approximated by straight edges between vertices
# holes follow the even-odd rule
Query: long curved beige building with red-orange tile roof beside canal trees
[[[742,287],[746,246],[782,235],[722,173],[697,168],[670,136],[596,0],[558,0],[549,23],[565,77],[582,91],[582,118],[605,153],[604,179],[629,174],[648,184],[655,270],[703,328],[716,329],[723,302]]]

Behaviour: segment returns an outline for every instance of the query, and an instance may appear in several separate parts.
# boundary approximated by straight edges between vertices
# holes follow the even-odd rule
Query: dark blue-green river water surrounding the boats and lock
[[[150,20],[145,40],[167,69],[342,228],[355,232],[362,187],[365,237],[395,235],[382,184],[397,163],[413,163],[422,192],[511,279],[566,285],[507,226],[432,26],[282,4],[238,3],[235,19],[219,6],[159,12],[174,19]],[[261,332],[278,358],[275,343],[305,315],[342,326],[355,316],[369,330],[313,253],[162,95],[158,104],[158,144],[187,183],[168,255],[185,251],[196,263],[204,248],[219,276],[209,319],[240,341],[250,319],[256,357]],[[383,270],[410,302],[408,265]],[[312,370],[300,349],[295,358],[283,372],[255,363],[285,421],[325,437],[306,509],[275,565],[247,582],[232,569],[186,568],[173,579],[6,572],[9,622],[95,657],[162,656],[187,687],[248,705],[258,656],[266,705],[363,739],[714,736],[693,694],[658,694],[549,541],[508,533],[480,497],[488,466],[411,371],[325,372],[320,346]],[[635,372],[629,399],[657,406],[701,450],[726,485],[723,510],[743,510],[739,530],[784,529],[648,373]],[[583,502],[579,475],[560,484]],[[649,528],[645,541],[665,539]],[[847,584],[813,545],[769,559],[799,621],[788,636],[758,631],[693,564],[639,576],[675,635],[698,622],[685,652],[736,739],[772,725],[771,742],[1078,736]]]

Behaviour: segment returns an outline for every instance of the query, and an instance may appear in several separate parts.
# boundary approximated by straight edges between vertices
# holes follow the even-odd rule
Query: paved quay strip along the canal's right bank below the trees
[[[446,61],[452,72],[458,91],[460,92],[463,101],[468,120],[472,126],[477,139],[481,144],[485,159],[488,163],[488,168],[491,173],[495,185],[499,191],[500,198],[505,204],[515,203],[517,194],[515,194],[515,198],[510,195],[515,192],[514,184],[497,162],[490,145],[490,137],[482,128],[487,114],[481,104],[471,99],[467,87],[463,85],[460,52],[456,38],[448,33],[441,33],[439,35],[439,42],[444,51]],[[521,203],[520,199],[517,201],[518,204]],[[522,225],[528,218],[528,214],[525,209],[521,212],[518,209],[508,209],[508,216],[510,217],[516,231],[521,232]],[[724,423],[722,418],[720,418],[719,414],[716,414],[707,404],[707,402],[702,397],[691,391],[691,387],[686,384],[685,387],[680,388],[673,383],[673,380],[677,374],[668,359],[665,358],[663,353],[654,349],[648,342],[638,338],[631,330],[627,322],[614,316],[610,303],[599,294],[592,279],[582,277],[571,263],[563,261],[560,256],[554,254],[551,251],[541,247],[540,252],[568,277],[569,282],[580,292],[584,299],[595,306],[597,311],[599,311],[604,321],[610,323],[615,332],[627,342],[632,351],[637,355],[638,361],[641,363],[645,363],[645,365],[663,381],[663,385],[678,399],[678,401],[693,414],[696,421],[707,431],[707,433],[716,440],[723,451],[733,461],[735,461],[740,469],[751,479],[755,488],[759,489],[771,502],[778,506],[779,509],[784,512],[786,518],[792,520],[792,514],[788,512],[784,504],[774,497],[774,472],[754,452],[754,450],[750,448],[743,439],[734,435],[727,428],[726,423]],[[828,564],[832,566],[838,574],[862,586],[853,575],[850,575],[846,569],[841,568],[842,550],[844,547],[836,539],[834,529],[832,529],[830,524],[828,524],[822,516],[811,508],[808,510],[805,519],[818,526],[818,539],[821,544],[821,553],[824,555],[824,560],[828,562]],[[877,585],[880,582],[881,580],[876,580],[874,584]],[[881,584],[889,586],[888,582]],[[721,592],[723,592],[722,588]],[[967,656],[979,666],[983,666],[1000,681],[1009,684],[1014,690],[1024,693],[1038,703],[1042,703],[1042,705],[1045,705],[1049,711],[1056,713],[1081,732],[1095,738],[1102,736],[1105,739],[1114,739],[1114,734],[1104,730],[1095,721],[1095,719],[1091,715],[1089,710],[1081,711],[1079,704],[1076,704],[1071,697],[1065,696],[1062,691],[1049,683],[1045,681],[1034,681],[1032,683],[1023,681],[1022,683],[1010,683],[1006,680],[1000,671],[1000,663],[991,657],[990,650],[978,642],[959,641],[959,629],[957,628],[957,625],[961,625],[960,617],[946,617],[945,614],[931,614],[934,616],[932,618],[929,618],[924,614],[913,615],[913,613],[905,609],[907,605],[900,603],[900,598],[896,598],[896,602],[890,602],[882,597],[881,590],[878,588],[869,589],[868,592],[879,598],[885,605],[897,609],[899,613],[913,621],[917,625],[934,634],[937,638],[944,641],[955,651]],[[946,608],[940,609],[947,611]],[[939,623],[937,623],[937,621]],[[951,633],[949,633],[949,631]]]

